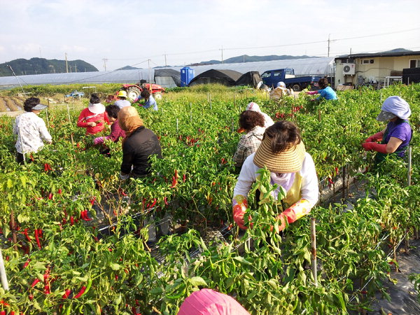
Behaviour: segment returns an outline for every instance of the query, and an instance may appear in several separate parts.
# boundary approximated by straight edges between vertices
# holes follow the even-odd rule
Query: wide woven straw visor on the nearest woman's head
[[[257,151],[253,162],[258,167],[267,167],[272,173],[295,173],[302,169],[304,160],[304,144],[290,145],[286,150],[279,153],[272,153],[271,139],[264,137]]]

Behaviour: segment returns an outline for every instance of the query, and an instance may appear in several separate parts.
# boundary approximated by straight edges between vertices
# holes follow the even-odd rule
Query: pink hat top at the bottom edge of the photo
[[[211,289],[195,291],[181,304],[178,315],[249,315],[233,297]]]

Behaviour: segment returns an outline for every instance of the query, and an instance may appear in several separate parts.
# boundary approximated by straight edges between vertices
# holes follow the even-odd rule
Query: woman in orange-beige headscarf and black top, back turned
[[[162,158],[162,148],[160,148],[158,137],[153,131],[144,127],[143,120],[132,106],[126,106],[120,110],[118,123],[125,131],[120,179],[146,176],[151,172],[149,157],[158,155],[158,158]]]

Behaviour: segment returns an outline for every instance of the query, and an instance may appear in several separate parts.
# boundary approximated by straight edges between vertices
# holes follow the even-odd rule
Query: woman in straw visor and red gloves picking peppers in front
[[[318,178],[314,160],[305,151],[300,130],[290,121],[274,123],[265,131],[257,151],[246,158],[239,174],[233,197],[233,218],[239,228],[246,229],[244,214],[248,207],[248,193],[257,178],[258,169],[267,167],[271,172],[271,183],[279,187],[272,192],[277,200],[280,190],[286,197],[278,202],[287,209],[279,214],[279,231],[288,223],[309,214],[318,202]],[[257,192],[257,199],[259,195]],[[279,232],[277,231],[277,232]]]

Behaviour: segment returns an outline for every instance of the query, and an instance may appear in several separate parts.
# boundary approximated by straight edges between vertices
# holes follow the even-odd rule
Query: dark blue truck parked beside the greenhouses
[[[308,85],[314,85],[321,76],[295,76],[295,70],[291,68],[274,69],[264,71],[261,75],[262,82],[269,87],[276,87],[283,81],[287,88],[295,92],[302,91]]]

